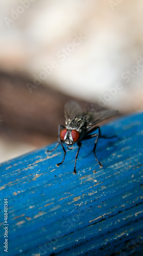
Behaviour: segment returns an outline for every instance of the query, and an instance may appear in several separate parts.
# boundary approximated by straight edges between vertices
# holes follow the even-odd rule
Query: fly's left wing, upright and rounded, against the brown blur
[[[67,122],[72,118],[76,116],[81,116],[83,114],[82,109],[80,108],[78,103],[75,101],[70,101],[66,103],[64,112],[65,112],[65,119]]]

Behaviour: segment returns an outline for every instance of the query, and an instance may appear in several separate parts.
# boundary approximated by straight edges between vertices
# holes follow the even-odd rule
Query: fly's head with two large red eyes
[[[69,150],[72,150],[74,143],[79,139],[79,132],[76,130],[63,129],[60,133],[61,140],[66,144]]]

